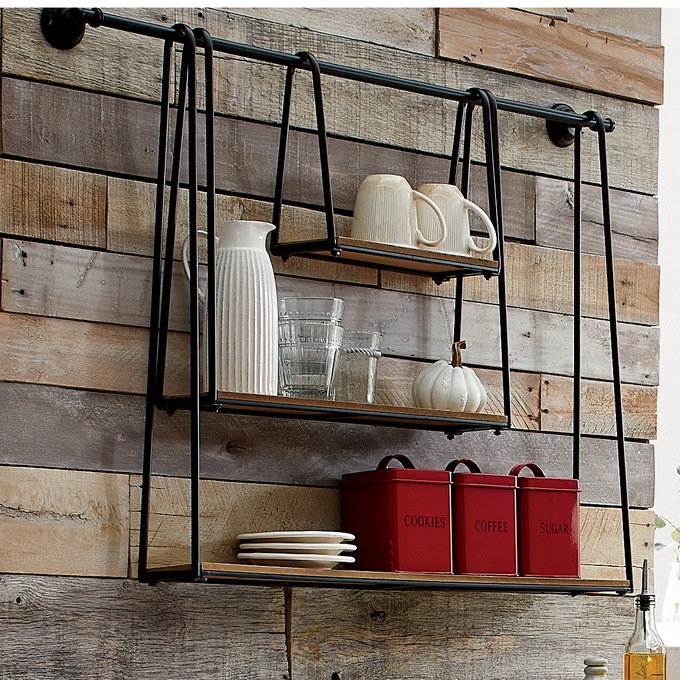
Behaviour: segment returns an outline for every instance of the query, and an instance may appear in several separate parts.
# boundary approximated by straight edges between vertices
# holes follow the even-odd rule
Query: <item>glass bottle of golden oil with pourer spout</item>
[[[656,631],[654,595],[647,590],[647,560],[642,592],[635,598],[635,628],[623,656],[624,680],[666,680],[666,648]]]

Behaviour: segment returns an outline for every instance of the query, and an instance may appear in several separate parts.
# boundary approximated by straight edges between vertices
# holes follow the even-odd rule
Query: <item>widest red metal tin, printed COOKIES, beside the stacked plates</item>
[[[403,468],[388,468],[392,460]],[[356,536],[357,569],[451,573],[451,476],[387,456],[342,477],[342,528]]]

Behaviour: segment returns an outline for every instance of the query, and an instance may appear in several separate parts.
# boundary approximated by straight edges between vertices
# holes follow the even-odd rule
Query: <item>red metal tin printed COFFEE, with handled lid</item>
[[[454,472],[459,464],[470,472]],[[469,460],[452,461],[453,570],[517,575],[516,477],[489,475]]]

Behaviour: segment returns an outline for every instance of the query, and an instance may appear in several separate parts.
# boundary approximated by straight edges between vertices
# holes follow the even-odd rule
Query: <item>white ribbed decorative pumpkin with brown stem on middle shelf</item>
[[[453,360],[440,359],[424,368],[413,381],[413,403],[418,408],[479,413],[486,406],[486,390],[476,373],[463,366],[465,341],[453,343]]]

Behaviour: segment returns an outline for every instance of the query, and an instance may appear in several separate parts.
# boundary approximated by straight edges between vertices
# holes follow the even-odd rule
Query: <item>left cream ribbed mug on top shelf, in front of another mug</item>
[[[425,231],[436,238],[427,238],[419,228],[416,203],[431,213],[435,226]],[[369,175],[357,192],[350,234],[361,241],[396,246],[435,246],[446,238],[446,220],[434,201],[415,191],[406,178]]]

